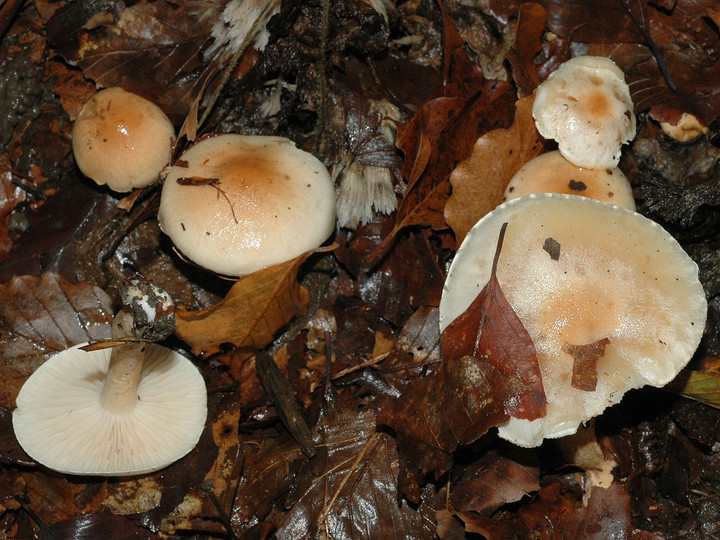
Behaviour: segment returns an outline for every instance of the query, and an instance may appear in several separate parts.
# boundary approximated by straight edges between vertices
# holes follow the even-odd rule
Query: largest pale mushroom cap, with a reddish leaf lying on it
[[[690,360],[707,314],[696,264],[653,221],[574,195],[528,195],[478,221],[448,272],[442,330],[488,282],[504,222],[497,279],[534,342],[547,415],[511,418],[501,437],[537,446],[572,434],[627,390],[663,386]],[[553,241],[557,260],[548,249]],[[595,389],[576,388],[567,347],[603,339]]]

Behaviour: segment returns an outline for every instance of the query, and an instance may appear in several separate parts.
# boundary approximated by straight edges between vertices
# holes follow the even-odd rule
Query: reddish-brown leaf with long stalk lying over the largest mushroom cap
[[[508,303],[495,275],[498,239],[488,284],[441,337],[442,364],[388,403],[379,420],[398,433],[404,467],[401,485],[414,501],[419,479],[438,478],[459,445],[469,444],[510,416],[545,415],[545,392],[532,339]]]

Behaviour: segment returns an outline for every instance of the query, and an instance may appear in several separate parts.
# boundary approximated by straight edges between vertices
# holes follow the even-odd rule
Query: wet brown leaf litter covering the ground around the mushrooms
[[[30,59],[41,85],[0,159],[2,534],[720,534],[717,9],[620,0],[287,5],[268,21],[265,51],[243,55],[198,125],[224,67],[204,53],[225,4],[37,0],[0,42],[3,58]],[[639,210],[698,262],[710,303],[698,357],[671,392],[631,392],[598,419],[600,447],[618,465],[610,487],[589,496],[581,470],[552,442],[520,450],[494,436],[509,410],[531,418],[543,403],[532,343],[500,288],[491,282],[478,309],[442,337],[437,316],[462,237],[547,146],[529,114],[534,87],[584,52],[626,71],[641,130],[621,168]],[[154,98],[177,126],[189,120],[188,134],[283,134],[328,165],[388,167],[398,210],[339,230],[333,251],[235,283],[208,276],[160,234],[145,204],[151,192],[127,214],[75,170],[69,126],[79,104],[96,85],[115,84]],[[395,153],[380,129],[388,118],[374,108],[381,100],[397,107]],[[668,140],[656,122],[681,112],[710,134]],[[157,473],[50,474],[14,440],[14,398],[53,352],[107,337],[119,305],[108,263],[179,301],[169,344],[193,355],[206,379],[208,423],[193,452]],[[294,400],[267,391],[276,383],[258,376],[260,351]],[[589,385],[601,353],[576,352],[587,368],[578,384]],[[288,402],[313,457],[278,409]]]

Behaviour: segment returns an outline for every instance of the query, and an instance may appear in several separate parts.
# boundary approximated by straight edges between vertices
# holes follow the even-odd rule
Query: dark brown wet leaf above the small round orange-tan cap
[[[107,5],[109,4],[109,5]],[[98,4],[96,4],[97,6]],[[65,10],[50,23],[51,41],[99,87],[122,86],[147,97],[175,119],[191,109],[205,84],[201,50],[207,21],[169,2]],[[98,14],[105,14],[99,19]],[[85,30],[87,19],[107,21]]]

